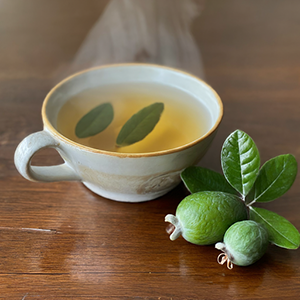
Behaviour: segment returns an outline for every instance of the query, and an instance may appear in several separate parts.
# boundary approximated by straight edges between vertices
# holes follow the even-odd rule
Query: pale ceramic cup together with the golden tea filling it
[[[89,119],[99,107],[101,118]],[[44,128],[20,142],[15,165],[31,181],[80,181],[109,199],[147,201],[173,189],[182,170],[200,161],[222,116],[220,97],[191,74],[147,64],[96,67],[66,78],[48,93]],[[136,127],[137,119],[143,126]],[[122,134],[128,124],[134,135]],[[56,149],[64,163],[31,165],[35,153],[47,147]]]

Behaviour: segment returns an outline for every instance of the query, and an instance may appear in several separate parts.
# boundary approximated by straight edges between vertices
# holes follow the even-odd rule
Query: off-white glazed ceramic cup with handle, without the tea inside
[[[158,82],[176,87],[197,98],[211,115],[210,129],[184,146],[149,153],[116,153],[93,149],[69,140],[57,131],[56,120],[63,104],[73,95],[107,84]],[[217,93],[202,80],[175,69],[149,64],[120,64],[77,73],[56,85],[46,96],[44,130],[27,136],[15,152],[15,165],[31,181],[81,181],[103,197],[142,202],[166,194],[180,183],[180,172],[196,164],[206,153],[223,116]],[[55,148],[64,160],[56,166],[32,166],[42,148]]]

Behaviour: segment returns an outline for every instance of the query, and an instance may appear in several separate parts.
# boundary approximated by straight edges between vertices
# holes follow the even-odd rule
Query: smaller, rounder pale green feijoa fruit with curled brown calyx
[[[232,264],[249,266],[264,255],[268,245],[269,236],[263,225],[252,220],[237,222],[226,231],[224,242],[215,245],[224,252],[218,256],[218,263],[227,261],[228,269]]]

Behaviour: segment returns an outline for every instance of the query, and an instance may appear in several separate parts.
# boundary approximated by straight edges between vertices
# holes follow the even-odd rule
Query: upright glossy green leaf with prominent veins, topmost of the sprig
[[[228,182],[245,198],[260,167],[260,156],[251,137],[236,130],[225,140],[221,151],[223,173]]]

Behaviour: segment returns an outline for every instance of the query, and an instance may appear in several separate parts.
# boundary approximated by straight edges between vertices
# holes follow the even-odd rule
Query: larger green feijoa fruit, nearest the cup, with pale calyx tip
[[[176,216],[167,215],[173,224],[170,239],[180,235],[197,245],[221,241],[230,225],[247,219],[244,202],[237,196],[223,192],[199,192],[187,196],[177,207]]]

